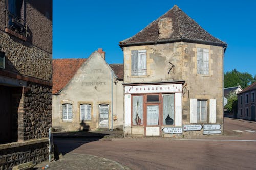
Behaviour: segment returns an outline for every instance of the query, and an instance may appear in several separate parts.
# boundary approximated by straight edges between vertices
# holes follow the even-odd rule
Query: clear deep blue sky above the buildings
[[[178,5],[228,44],[224,72],[256,75],[256,1],[53,0],[53,58],[88,58],[98,48],[108,63],[123,63],[118,42],[135,35]]]

